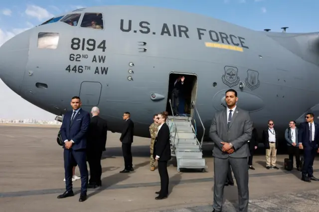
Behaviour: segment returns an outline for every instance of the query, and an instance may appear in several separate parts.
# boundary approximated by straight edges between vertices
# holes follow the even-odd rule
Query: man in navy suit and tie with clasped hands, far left
[[[90,124],[90,114],[81,108],[79,97],[72,97],[72,111],[67,111],[60,128],[64,141],[64,170],[66,191],[57,198],[74,196],[72,190],[72,168],[76,162],[81,174],[81,194],[79,202],[87,198],[88,168],[86,165],[86,133]]]

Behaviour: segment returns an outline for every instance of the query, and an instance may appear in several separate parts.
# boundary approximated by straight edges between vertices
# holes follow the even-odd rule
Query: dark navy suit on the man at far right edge
[[[313,165],[319,145],[319,125],[315,122],[313,122],[313,124],[315,124],[315,132],[313,132],[315,133],[314,141],[310,141],[310,126],[308,122],[301,123],[298,130],[298,141],[302,143],[304,147],[305,162],[302,170],[303,178],[314,177]]]

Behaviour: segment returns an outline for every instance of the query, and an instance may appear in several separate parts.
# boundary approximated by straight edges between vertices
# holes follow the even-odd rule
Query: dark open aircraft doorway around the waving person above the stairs
[[[192,102],[196,103],[197,95],[197,76],[193,74],[186,73],[170,73],[168,80],[168,95],[167,95],[167,104],[166,111],[169,115],[172,115],[171,107],[169,105],[169,100],[171,100],[172,108],[174,110],[174,101],[172,100],[172,92],[175,87],[175,82],[178,78],[184,77],[184,83],[181,85],[178,92],[178,106],[177,113],[181,116],[193,116],[193,106]],[[180,82],[180,80],[179,80]]]

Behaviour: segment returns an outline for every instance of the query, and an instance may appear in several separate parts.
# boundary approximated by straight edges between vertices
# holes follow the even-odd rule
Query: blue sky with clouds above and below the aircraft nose
[[[144,5],[199,13],[253,30],[319,31],[319,0],[3,0],[0,4],[0,46],[49,18],[76,8],[99,5]],[[1,59],[1,56],[0,56]],[[0,118],[54,119],[0,80]]]

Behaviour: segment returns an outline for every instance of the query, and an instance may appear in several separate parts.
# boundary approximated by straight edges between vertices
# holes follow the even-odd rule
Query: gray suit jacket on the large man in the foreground
[[[247,111],[236,107],[229,128],[227,127],[227,109],[215,113],[209,129],[209,137],[214,142],[213,156],[217,158],[244,158],[250,156],[248,140],[252,137],[253,122]],[[234,152],[223,152],[220,142],[232,143]]]

